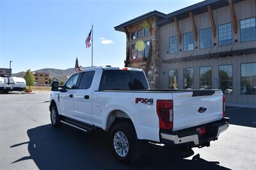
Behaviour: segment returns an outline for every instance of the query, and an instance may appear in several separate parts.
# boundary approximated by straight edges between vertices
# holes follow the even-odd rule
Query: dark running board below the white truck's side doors
[[[93,131],[93,126],[92,125],[87,125],[86,123],[77,121],[77,120],[72,120],[70,118],[61,116],[61,123],[64,123],[66,125],[69,125],[70,127],[77,128],[79,130],[82,130],[83,132],[92,132]]]

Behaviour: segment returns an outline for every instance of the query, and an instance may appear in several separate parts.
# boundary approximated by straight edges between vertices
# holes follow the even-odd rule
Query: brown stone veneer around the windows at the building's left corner
[[[158,49],[159,27],[156,26],[156,20],[157,20],[156,17],[152,17],[148,19],[148,21],[152,26],[152,34],[150,35],[150,37],[152,37],[150,39],[152,42],[151,43],[152,48],[151,48],[151,57],[149,56],[147,61],[138,61],[138,60],[136,61],[136,59],[131,59],[131,46],[129,48],[129,39],[127,39],[127,50],[128,49],[130,50],[129,52],[130,63],[128,66],[143,69],[147,75],[150,88],[152,89],[159,88],[159,63],[160,63],[159,49]],[[143,28],[143,25],[145,24],[145,22],[146,20],[143,20],[136,24],[132,24],[131,26],[127,27],[128,32],[131,33],[131,32],[140,30],[141,28]],[[136,42],[139,40],[140,39],[136,39]],[[141,40],[143,40],[143,38],[141,38]],[[147,69],[147,65],[148,65],[148,69]]]

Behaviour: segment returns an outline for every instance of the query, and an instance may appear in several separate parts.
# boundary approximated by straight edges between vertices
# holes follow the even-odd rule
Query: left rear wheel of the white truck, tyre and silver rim
[[[116,159],[124,164],[136,160],[137,137],[131,123],[118,123],[111,129],[111,147]]]

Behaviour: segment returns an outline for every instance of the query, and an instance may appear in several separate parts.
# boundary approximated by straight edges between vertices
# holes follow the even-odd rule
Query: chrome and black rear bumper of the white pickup
[[[208,146],[210,141],[218,139],[221,132],[227,130],[229,118],[223,118],[220,121],[214,121],[197,127],[186,128],[175,132],[166,130],[160,131],[160,141],[168,145],[188,145],[191,147]],[[196,128],[205,128],[205,134],[199,135]]]

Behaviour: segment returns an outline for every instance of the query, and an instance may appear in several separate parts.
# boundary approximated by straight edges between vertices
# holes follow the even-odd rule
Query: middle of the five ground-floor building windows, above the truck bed
[[[202,66],[200,67],[200,89],[212,88],[212,67]]]

